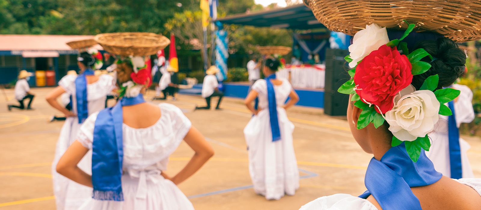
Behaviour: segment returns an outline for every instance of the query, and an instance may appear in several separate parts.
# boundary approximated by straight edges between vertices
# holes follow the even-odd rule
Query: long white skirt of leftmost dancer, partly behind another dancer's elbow
[[[92,198],[92,188],[80,185],[63,175],[57,173],[55,168],[63,153],[72,144],[78,135],[81,124],[77,117],[67,117],[55,149],[55,158],[52,163],[53,193],[57,210],[77,210],[86,200]],[[78,163],[78,167],[88,174],[92,174],[92,152],[89,151]]]

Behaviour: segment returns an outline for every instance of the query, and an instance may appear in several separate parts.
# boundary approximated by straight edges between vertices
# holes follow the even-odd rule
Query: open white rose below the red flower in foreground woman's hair
[[[413,141],[431,132],[439,119],[440,103],[429,90],[415,91],[399,98],[386,121],[392,134],[403,141]]]

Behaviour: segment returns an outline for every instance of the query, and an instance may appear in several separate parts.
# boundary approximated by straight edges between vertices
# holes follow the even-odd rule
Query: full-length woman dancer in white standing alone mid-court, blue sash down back
[[[244,128],[249,151],[249,171],[255,193],[266,199],[293,196],[299,188],[299,171],[292,145],[294,125],[286,109],[299,101],[299,96],[286,79],[276,79],[280,62],[267,58],[263,69],[265,80],[258,80],[245,99],[253,117]],[[259,109],[252,102],[259,97]],[[287,97],[291,99],[287,104]]]

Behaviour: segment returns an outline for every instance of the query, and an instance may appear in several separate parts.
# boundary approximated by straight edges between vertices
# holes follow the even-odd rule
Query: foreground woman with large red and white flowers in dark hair
[[[317,198],[301,210],[480,208],[481,179],[443,176],[424,152],[430,148],[427,134],[438,121],[438,113],[451,114],[443,104],[459,93],[443,87],[463,74],[466,56],[443,36],[411,35],[390,42],[393,38],[376,24],[354,35],[347,58],[356,67],[350,71],[354,79],[339,92],[352,94],[347,110],[351,132],[364,151],[374,154],[365,177],[367,191],[359,197]],[[439,38],[429,38],[435,36]],[[397,46],[404,50],[398,51]]]

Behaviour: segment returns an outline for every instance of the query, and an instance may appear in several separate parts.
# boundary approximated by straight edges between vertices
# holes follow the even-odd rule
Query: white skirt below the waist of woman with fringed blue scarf
[[[122,176],[124,201],[105,201],[90,198],[79,210],[194,210],[190,200],[170,180],[159,176],[153,183],[147,180],[142,187],[146,198],[138,198],[139,178]]]

